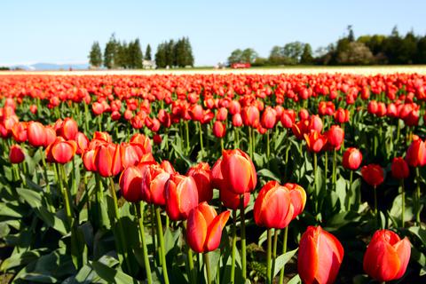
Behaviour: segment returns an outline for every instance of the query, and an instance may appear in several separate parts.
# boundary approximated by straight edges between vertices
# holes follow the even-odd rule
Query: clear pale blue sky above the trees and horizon
[[[308,42],[315,50],[345,35],[426,34],[426,1],[23,1],[0,3],[0,65],[87,62],[91,43],[150,43],[189,36],[196,65],[225,61],[236,48],[267,56],[273,45]]]

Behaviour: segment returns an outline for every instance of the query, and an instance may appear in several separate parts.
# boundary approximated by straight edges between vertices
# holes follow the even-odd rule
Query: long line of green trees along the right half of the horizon
[[[351,26],[347,31],[347,36],[315,52],[309,43],[292,42],[273,46],[267,58],[258,56],[251,48],[237,49],[228,57],[228,63],[250,63],[253,66],[426,64],[426,36],[416,36],[413,31],[402,36],[397,27],[389,36],[355,38]]]

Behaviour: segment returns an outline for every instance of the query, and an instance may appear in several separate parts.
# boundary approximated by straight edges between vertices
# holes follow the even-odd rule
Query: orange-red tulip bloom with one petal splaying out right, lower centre
[[[229,210],[217,215],[212,206],[207,202],[201,202],[191,210],[188,217],[186,241],[189,247],[198,253],[218,248],[229,215]]]

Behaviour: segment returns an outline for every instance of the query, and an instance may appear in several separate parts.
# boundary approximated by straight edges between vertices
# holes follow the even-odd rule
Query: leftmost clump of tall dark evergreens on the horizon
[[[91,67],[106,67],[108,69],[140,69],[143,67],[144,59],[152,60],[150,44],[146,45],[144,57],[138,38],[126,43],[117,40],[114,34],[106,43],[104,52],[101,51],[99,43],[94,42],[89,53]]]

